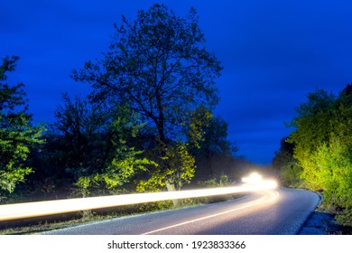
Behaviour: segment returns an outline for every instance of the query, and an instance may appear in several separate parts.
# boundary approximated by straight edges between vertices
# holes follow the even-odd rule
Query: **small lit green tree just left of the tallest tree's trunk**
[[[129,183],[138,172],[146,171],[147,167],[157,167],[152,160],[142,157],[142,151],[129,147],[128,142],[137,137],[143,125],[137,125],[137,120],[130,114],[127,106],[117,107],[115,119],[107,126],[108,142],[112,150],[109,152],[105,167],[97,173],[79,177],[76,183],[83,195],[89,193],[89,188],[107,189],[110,193],[123,191],[122,186]]]

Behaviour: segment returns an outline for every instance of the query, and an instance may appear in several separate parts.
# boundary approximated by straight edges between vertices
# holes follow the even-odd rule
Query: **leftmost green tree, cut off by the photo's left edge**
[[[32,126],[23,83],[9,86],[7,72],[14,71],[19,57],[5,57],[0,66],[0,190],[14,192],[17,183],[32,172],[25,161],[43,143],[42,126]]]

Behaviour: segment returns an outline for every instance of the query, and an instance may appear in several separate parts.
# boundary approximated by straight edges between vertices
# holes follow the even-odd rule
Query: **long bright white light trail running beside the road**
[[[93,210],[153,201],[199,198],[237,192],[258,192],[275,189],[276,187],[277,185],[273,180],[261,180],[256,183],[223,188],[208,188],[180,192],[136,193],[58,201],[36,201],[6,204],[0,205],[0,220],[16,220],[72,211]]]

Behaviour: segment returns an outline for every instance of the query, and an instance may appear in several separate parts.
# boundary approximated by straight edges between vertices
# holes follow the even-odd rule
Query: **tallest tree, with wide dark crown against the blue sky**
[[[190,112],[218,103],[215,79],[222,67],[207,51],[193,8],[181,18],[153,5],[134,22],[123,16],[115,28],[103,60],[88,61],[73,78],[92,85],[92,101],[126,102],[141,115],[165,158],[159,164],[165,183],[174,189],[168,147],[184,138]]]

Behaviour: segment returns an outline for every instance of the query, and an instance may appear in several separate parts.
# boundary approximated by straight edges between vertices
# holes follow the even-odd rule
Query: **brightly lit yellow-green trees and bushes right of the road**
[[[273,167],[284,186],[323,194],[327,210],[352,224],[352,84],[337,95],[316,89],[296,108]]]

